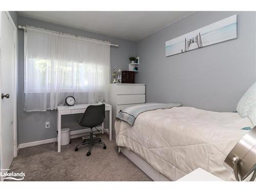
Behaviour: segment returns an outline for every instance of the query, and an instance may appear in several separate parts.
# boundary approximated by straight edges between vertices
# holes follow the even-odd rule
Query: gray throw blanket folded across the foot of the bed
[[[120,119],[122,121],[125,121],[133,125],[138,115],[143,112],[158,110],[158,109],[170,109],[170,108],[173,108],[174,106],[181,106],[181,104],[180,103],[145,103],[145,104],[130,106],[130,108],[120,110],[120,112],[116,116],[116,119]]]

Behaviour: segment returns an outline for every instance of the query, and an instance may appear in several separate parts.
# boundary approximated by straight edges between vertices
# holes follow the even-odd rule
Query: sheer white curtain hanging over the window
[[[109,101],[110,44],[45,30],[24,32],[25,111],[46,111],[74,96],[76,103]]]

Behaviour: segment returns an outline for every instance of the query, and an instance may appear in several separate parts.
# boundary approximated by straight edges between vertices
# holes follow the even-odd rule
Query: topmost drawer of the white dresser
[[[145,86],[144,85],[117,85],[116,86],[116,94],[117,95],[129,95],[129,94],[145,94]]]

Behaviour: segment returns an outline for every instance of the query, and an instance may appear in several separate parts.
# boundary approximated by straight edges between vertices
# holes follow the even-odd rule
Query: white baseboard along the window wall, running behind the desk
[[[101,131],[101,127],[97,127],[97,129],[99,131]],[[93,129],[93,132],[94,132],[94,134],[98,133],[96,129]],[[89,134],[90,134],[90,129],[82,129],[82,130],[71,131],[70,132],[70,139],[74,139],[74,138],[77,138],[77,137],[83,137],[83,136],[86,136],[86,135],[89,135]],[[52,138],[52,139],[46,139],[46,140],[40,140],[40,141],[33,141],[33,142],[29,142],[29,143],[22,143],[22,144],[19,144],[18,147],[17,147],[17,154],[18,154],[18,150],[20,148],[25,148],[25,147],[29,147],[29,146],[35,146],[35,145],[41,145],[41,144],[46,144],[46,143],[52,143],[52,142],[56,142],[56,141],[57,141],[57,138]]]

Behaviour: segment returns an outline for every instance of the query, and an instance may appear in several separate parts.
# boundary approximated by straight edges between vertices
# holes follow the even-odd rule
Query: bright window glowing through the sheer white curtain
[[[103,76],[103,66],[77,62],[66,62],[59,65],[58,61],[48,59],[29,59],[27,70],[27,93],[50,92],[55,87],[61,87],[62,92],[87,92],[90,89],[90,77]],[[60,76],[60,79],[58,79]],[[56,82],[54,82],[56,81]],[[103,82],[99,82],[99,86]],[[26,92],[25,92],[26,93]]]

